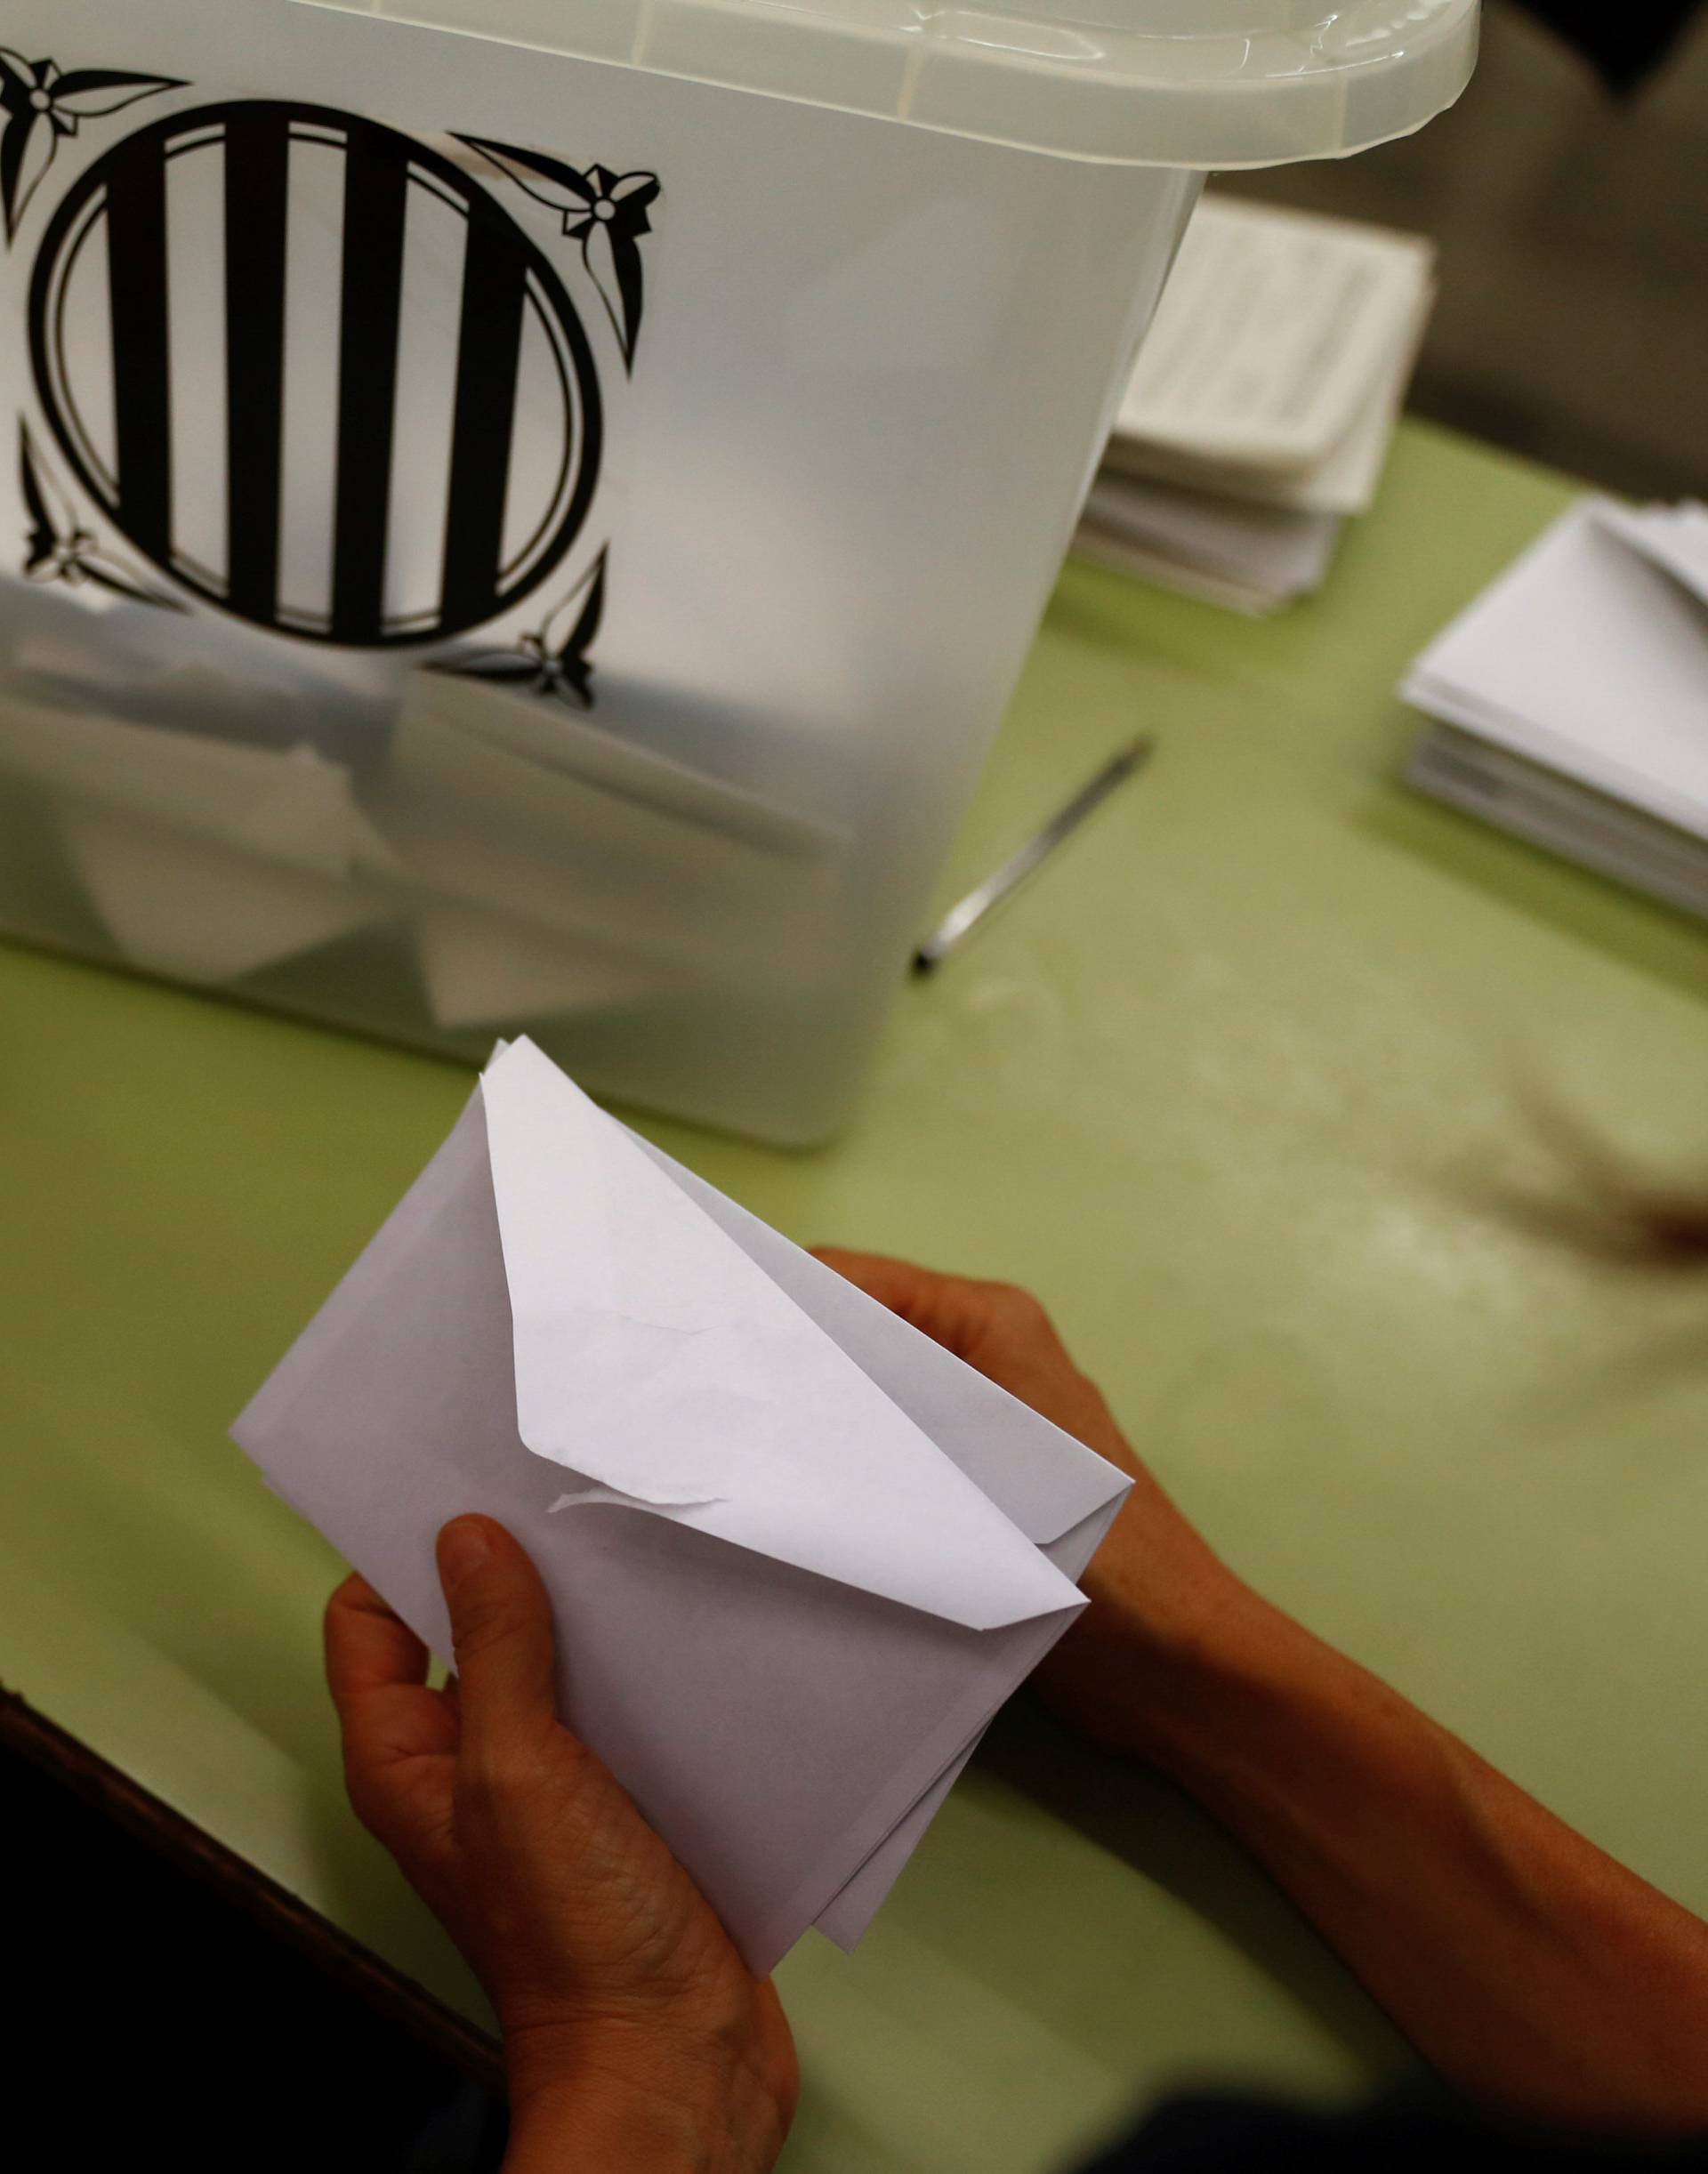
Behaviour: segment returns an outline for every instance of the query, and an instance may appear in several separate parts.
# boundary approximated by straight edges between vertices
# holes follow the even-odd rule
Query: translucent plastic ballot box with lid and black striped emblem
[[[9,0],[0,926],[834,1130],[1204,172],[1475,0]]]

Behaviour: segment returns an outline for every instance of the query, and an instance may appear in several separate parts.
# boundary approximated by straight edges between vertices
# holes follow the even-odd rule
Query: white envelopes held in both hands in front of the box
[[[530,1041],[233,1433],[441,1657],[439,1526],[528,1546],[565,1720],[754,1970],[865,1931],[1128,1491]]]

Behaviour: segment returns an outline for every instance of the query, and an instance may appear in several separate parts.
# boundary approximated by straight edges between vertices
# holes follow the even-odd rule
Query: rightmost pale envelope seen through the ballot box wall
[[[628,689],[628,713],[645,717],[645,691]],[[715,739],[726,720],[698,724]],[[776,974],[817,933],[847,844],[565,707],[445,672],[411,674],[374,809],[415,891],[441,1026]]]

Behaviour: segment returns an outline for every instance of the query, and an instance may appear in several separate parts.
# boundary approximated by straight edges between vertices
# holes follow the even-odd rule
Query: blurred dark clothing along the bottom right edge
[[[1087,2174],[1708,2174],[1708,2141],[1617,2144],[1497,2122],[1412,2085],[1349,2113],[1176,2098]]]

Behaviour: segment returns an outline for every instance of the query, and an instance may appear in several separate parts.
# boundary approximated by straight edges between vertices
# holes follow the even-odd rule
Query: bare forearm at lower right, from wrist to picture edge
[[[1708,2131],[1708,1928],[1243,1587],[1134,1654],[1130,1741],[1467,2094]]]

